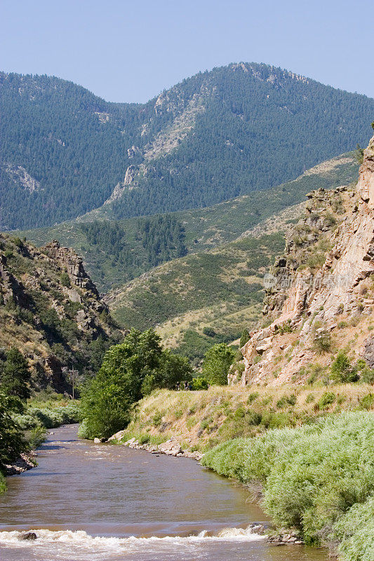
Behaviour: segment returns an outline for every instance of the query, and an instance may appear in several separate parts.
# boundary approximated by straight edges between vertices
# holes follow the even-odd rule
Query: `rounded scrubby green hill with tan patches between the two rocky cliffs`
[[[107,295],[107,303],[122,325],[157,326],[168,346],[199,357],[220,337],[236,339],[258,320],[262,278],[283,246],[277,232],[187,255]],[[203,335],[206,326],[218,337]]]

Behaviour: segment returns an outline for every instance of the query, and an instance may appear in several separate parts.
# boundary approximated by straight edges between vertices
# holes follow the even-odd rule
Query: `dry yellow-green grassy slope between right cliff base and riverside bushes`
[[[321,383],[296,388],[159,390],[137,404],[123,440],[133,436],[150,442],[176,438],[184,449],[205,452],[221,442],[260,435],[269,428],[299,426],[340,411],[373,409],[371,391],[373,387],[367,384],[326,388]]]

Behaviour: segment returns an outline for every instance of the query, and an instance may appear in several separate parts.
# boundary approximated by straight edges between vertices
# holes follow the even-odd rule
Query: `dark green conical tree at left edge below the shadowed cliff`
[[[6,353],[6,360],[0,371],[1,389],[9,396],[26,400],[30,396],[31,372],[27,360],[15,347]]]

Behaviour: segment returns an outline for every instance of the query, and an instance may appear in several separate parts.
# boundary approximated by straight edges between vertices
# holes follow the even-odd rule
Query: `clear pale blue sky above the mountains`
[[[145,102],[199,70],[266,62],[374,97],[363,0],[0,0],[0,69]]]

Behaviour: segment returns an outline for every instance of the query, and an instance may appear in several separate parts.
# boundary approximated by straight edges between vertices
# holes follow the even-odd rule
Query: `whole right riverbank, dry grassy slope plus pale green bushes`
[[[260,501],[277,542],[294,529],[297,541],[328,546],[342,561],[373,561],[372,388],[287,389],[161,390],[138,403],[112,441],[175,457],[205,453],[204,466],[243,483]]]

